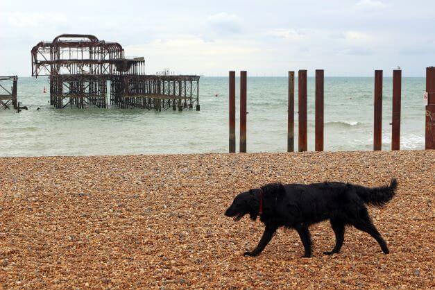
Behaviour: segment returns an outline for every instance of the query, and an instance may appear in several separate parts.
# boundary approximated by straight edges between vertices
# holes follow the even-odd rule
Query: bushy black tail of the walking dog
[[[393,178],[390,185],[382,187],[357,187],[358,196],[368,205],[382,207],[395,196],[398,180]]]

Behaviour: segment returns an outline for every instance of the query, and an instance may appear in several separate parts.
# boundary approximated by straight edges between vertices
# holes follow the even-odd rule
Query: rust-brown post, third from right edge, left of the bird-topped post
[[[382,70],[375,71],[373,150],[382,150]]]

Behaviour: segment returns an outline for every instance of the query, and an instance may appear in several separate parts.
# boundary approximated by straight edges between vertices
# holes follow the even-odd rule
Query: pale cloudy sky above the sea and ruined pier
[[[146,73],[425,76],[435,66],[435,1],[0,1],[0,75],[31,75],[31,49],[62,33],[119,42]]]

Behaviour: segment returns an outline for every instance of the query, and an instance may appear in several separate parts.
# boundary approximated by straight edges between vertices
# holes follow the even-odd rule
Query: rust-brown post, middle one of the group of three
[[[299,151],[307,151],[307,71],[298,73]]]

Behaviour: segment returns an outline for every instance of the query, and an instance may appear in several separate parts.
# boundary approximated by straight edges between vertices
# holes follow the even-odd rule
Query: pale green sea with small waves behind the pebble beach
[[[309,151],[314,151],[314,81],[307,80]],[[287,77],[248,77],[248,152],[287,151],[287,82]],[[238,78],[236,83],[238,151]],[[297,151],[297,78],[295,83]],[[392,83],[384,78],[382,150],[391,150]],[[325,151],[373,150],[373,78],[326,77],[324,86]],[[18,99],[28,110],[0,110],[0,156],[228,152],[228,77],[201,77],[199,112],[55,109],[48,90],[48,78],[19,77]],[[424,148],[424,92],[425,78],[402,78],[401,149]]]

